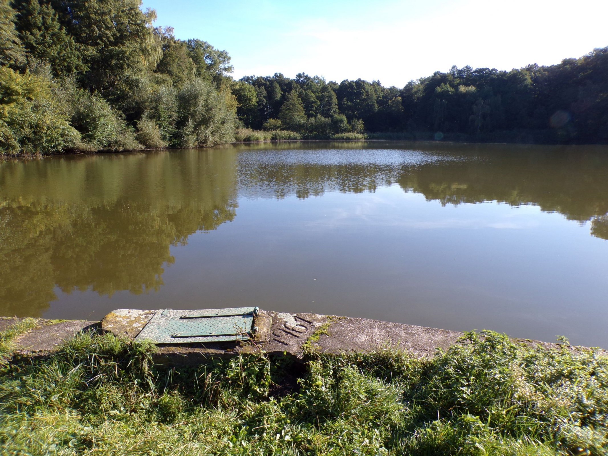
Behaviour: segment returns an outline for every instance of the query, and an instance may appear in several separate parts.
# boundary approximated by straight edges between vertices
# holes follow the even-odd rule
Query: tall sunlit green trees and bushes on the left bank
[[[229,55],[153,27],[139,0],[0,0],[0,151],[233,140]]]

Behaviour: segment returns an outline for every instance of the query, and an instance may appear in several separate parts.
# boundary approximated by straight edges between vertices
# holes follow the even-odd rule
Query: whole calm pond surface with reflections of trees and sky
[[[0,314],[257,305],[608,348],[608,148],[400,142],[0,164]]]

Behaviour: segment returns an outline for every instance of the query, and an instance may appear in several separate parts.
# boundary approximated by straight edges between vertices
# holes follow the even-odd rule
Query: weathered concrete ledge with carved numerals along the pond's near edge
[[[214,309],[202,309],[210,310]],[[0,332],[12,325],[27,323],[27,330],[14,341],[15,353],[26,357],[48,356],[59,350],[61,345],[72,337],[89,330],[134,340],[154,314],[160,312],[162,309],[117,309],[100,321],[0,317]],[[258,330],[252,338],[253,344],[235,341],[159,343],[154,361],[168,365],[192,365],[206,362],[209,358],[232,358],[257,352],[302,359],[311,353],[340,356],[345,353],[382,353],[385,350],[407,353],[416,358],[430,358],[437,350],[449,350],[468,334],[466,331],[427,328],[382,320],[264,310],[260,310],[255,317],[255,325]],[[484,331],[480,334],[484,334]],[[574,351],[596,350],[599,354],[608,356],[608,351],[600,347],[582,347],[515,337],[510,337],[510,340],[516,344],[546,350],[567,347]]]

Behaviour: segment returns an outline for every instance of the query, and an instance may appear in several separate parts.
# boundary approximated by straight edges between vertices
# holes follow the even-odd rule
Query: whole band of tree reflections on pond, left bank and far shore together
[[[233,221],[237,196],[308,199],[398,184],[444,206],[537,205],[590,221],[590,233],[608,239],[604,152],[289,143],[0,164],[0,314],[40,316],[57,289],[108,296],[158,291],[174,262],[170,247]]]

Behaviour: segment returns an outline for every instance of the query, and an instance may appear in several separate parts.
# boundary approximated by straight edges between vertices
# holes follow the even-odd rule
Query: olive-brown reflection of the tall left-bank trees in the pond
[[[156,153],[2,165],[0,314],[91,289],[163,285],[170,246],[235,218],[235,155]]]

